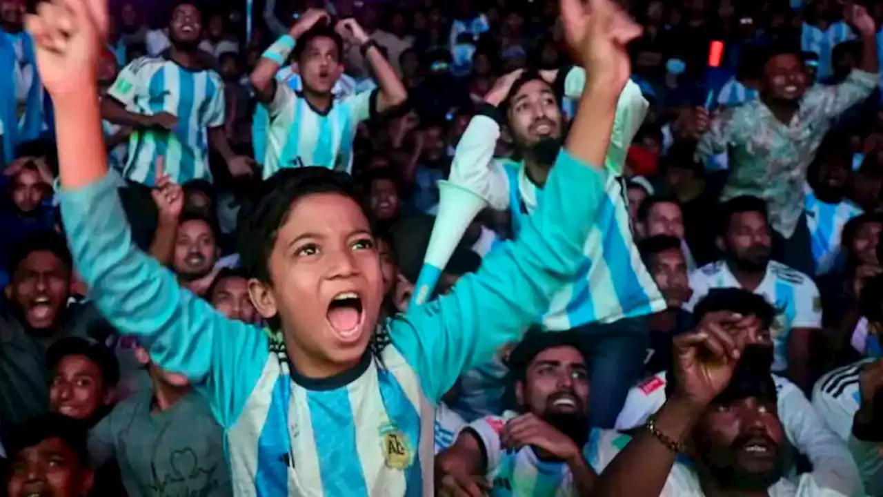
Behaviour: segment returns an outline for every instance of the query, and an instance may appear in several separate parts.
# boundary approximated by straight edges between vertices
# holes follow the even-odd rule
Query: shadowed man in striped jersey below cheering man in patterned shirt
[[[816,159],[806,172],[806,226],[810,229],[816,275],[825,274],[840,260],[843,226],[862,213],[849,201],[852,176],[849,136],[830,133],[819,146]]]

